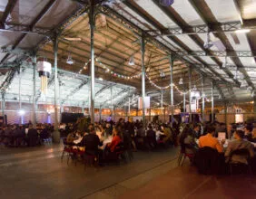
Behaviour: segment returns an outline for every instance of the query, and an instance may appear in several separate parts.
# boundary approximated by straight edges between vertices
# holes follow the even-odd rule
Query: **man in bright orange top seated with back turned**
[[[216,149],[219,153],[223,152],[223,144],[225,140],[222,140],[220,144],[216,137],[213,137],[215,134],[215,127],[210,125],[206,128],[207,134],[199,138],[199,147],[212,147]]]

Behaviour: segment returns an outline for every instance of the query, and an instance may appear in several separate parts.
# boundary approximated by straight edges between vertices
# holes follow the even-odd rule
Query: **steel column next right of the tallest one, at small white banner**
[[[142,97],[143,97],[143,130],[145,130],[145,38],[142,35],[141,38],[141,50],[142,50]]]

